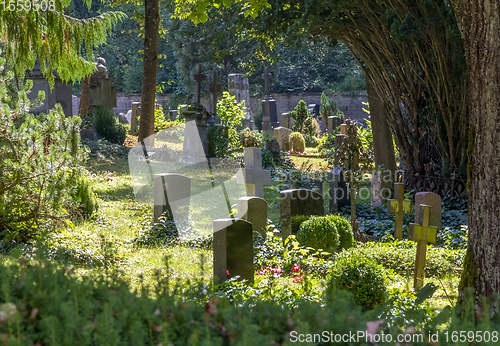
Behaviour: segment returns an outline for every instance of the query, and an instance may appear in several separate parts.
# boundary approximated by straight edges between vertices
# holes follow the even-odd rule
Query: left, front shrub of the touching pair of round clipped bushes
[[[328,216],[314,216],[302,222],[297,241],[302,246],[335,252],[339,246],[339,234],[335,223]]]

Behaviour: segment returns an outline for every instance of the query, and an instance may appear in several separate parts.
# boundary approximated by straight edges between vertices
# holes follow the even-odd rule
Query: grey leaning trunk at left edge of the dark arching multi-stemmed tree
[[[375,85],[368,74],[365,74],[366,92],[368,104],[370,105],[370,120],[372,123],[373,154],[375,156],[375,168],[383,167],[381,174],[382,188],[389,189],[392,198],[394,192],[394,177],[396,171],[396,155],[392,142],[392,133],[387,117],[385,115],[384,102],[375,90]],[[385,203],[386,198],[382,198]]]

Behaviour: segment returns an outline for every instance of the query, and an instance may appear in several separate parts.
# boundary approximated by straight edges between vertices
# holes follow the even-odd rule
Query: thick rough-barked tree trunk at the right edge
[[[475,286],[478,296],[491,297],[500,293],[500,2],[457,0],[455,5],[471,121],[468,256],[459,288]]]

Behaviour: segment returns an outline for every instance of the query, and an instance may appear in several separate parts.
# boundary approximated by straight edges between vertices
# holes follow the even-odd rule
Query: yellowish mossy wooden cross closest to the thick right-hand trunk
[[[421,225],[416,223],[410,224],[411,239],[417,242],[417,256],[415,258],[415,272],[413,274],[413,288],[415,291],[420,290],[424,286],[427,243],[436,244],[437,238],[437,227],[429,226],[431,207],[421,204],[420,208]]]

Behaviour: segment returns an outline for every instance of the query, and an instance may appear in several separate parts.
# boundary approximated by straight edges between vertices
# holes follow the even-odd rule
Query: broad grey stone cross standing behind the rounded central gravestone
[[[271,185],[271,171],[262,169],[262,149],[245,148],[245,168],[236,174],[236,182],[245,184],[247,196],[264,198],[264,185]]]

